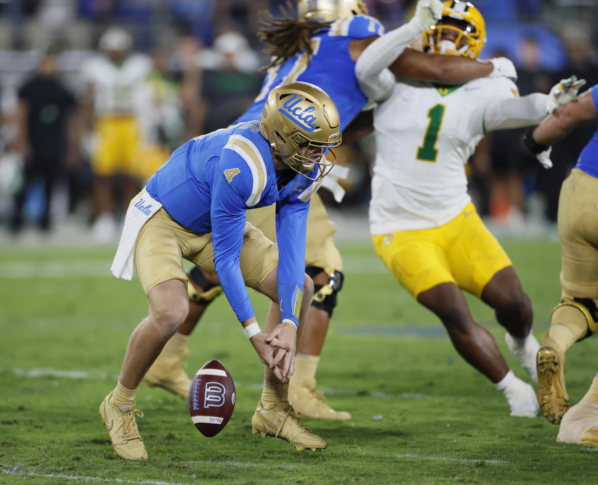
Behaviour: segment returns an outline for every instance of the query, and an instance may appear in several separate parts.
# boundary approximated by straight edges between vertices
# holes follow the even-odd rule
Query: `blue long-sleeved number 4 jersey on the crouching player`
[[[270,146],[252,121],[188,141],[147,183],[176,222],[212,233],[216,273],[239,322],[255,316],[239,266],[245,211],[276,204],[280,313],[298,325],[307,212],[319,183],[289,170],[276,175]],[[307,175],[317,174],[316,165]]]

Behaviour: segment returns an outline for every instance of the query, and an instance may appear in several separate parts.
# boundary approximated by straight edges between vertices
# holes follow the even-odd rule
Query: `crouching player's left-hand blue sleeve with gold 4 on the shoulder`
[[[228,146],[228,145],[227,145]],[[225,149],[212,180],[212,245],[216,274],[239,322],[255,311],[239,266],[245,232],[245,201],[253,189],[252,174],[245,160]]]

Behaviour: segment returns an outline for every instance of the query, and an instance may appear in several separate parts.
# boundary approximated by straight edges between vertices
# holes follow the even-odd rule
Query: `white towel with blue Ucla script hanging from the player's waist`
[[[123,234],[110,268],[115,277],[129,281],[133,277],[133,251],[139,231],[161,207],[162,204],[151,198],[145,189],[138,195],[135,204],[130,205],[124,218]]]

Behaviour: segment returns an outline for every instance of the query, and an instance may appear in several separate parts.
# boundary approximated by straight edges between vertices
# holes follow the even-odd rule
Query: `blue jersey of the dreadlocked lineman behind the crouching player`
[[[355,77],[355,61],[351,59],[349,44],[356,39],[384,34],[382,24],[367,15],[333,22],[329,28],[312,36],[311,59],[305,51],[301,51],[268,70],[260,95],[235,123],[259,120],[273,87],[281,83],[303,81],[315,84],[332,98],[343,131],[368,102]]]

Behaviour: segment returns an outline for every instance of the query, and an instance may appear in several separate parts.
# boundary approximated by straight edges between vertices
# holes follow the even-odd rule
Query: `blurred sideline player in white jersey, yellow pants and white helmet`
[[[82,68],[87,84],[86,115],[93,126],[91,165],[96,180],[93,199],[96,220],[94,237],[111,241],[116,234],[113,190],[116,175],[123,178],[123,208],[139,191],[139,110],[143,101],[140,86],[151,71],[142,54],[131,54],[133,39],[118,27],[106,30],[99,41],[102,54]]]

